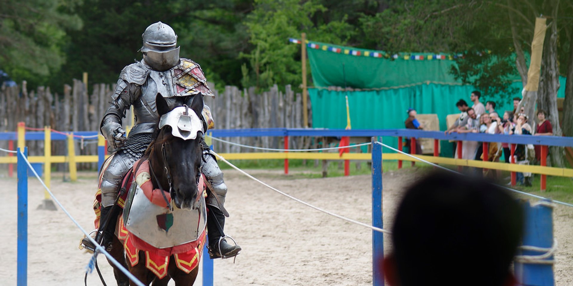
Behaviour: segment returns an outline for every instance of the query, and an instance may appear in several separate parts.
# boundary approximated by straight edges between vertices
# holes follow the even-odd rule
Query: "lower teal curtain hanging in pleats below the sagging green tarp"
[[[561,78],[565,86],[564,78]],[[521,82],[515,82],[517,88]],[[560,89],[560,97],[563,97]],[[471,85],[422,84],[407,88],[370,90],[360,92],[337,92],[327,89],[309,89],[312,104],[313,128],[346,128],[346,96],[350,106],[352,129],[394,129],[404,128],[406,110],[415,108],[418,113],[435,113],[439,129],[446,130],[446,116],[459,113],[456,102],[464,99],[470,106]],[[482,98],[482,102],[488,98]],[[496,110],[503,116],[505,110],[513,110],[513,101],[497,102]],[[388,145],[397,148],[396,138],[383,138]],[[442,142],[442,155],[452,154],[450,144]]]

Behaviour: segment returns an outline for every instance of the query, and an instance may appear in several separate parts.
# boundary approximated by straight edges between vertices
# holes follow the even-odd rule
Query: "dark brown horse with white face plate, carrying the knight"
[[[162,117],[159,125],[160,129],[155,141],[152,142],[144,156],[147,157],[149,161],[153,188],[169,192],[170,200],[164,197],[167,208],[201,213],[201,211],[198,211],[197,209],[199,203],[203,200],[202,192],[198,191],[198,182],[199,177],[201,176],[201,139],[203,132],[202,129],[197,130],[196,118],[197,115],[199,115],[198,118],[201,118],[200,114],[203,109],[202,96],[201,94],[195,96],[191,102],[185,102],[185,98],[164,99],[163,97],[158,96],[156,104],[159,116]],[[193,122],[194,128],[191,128],[191,131],[189,131],[189,126],[186,126],[191,123],[187,120],[188,118],[186,119],[185,117],[186,112],[183,112],[182,115],[179,114],[181,115],[180,118],[178,116],[174,117],[173,113],[168,114],[171,111],[175,112],[176,110],[174,109],[178,108],[178,106],[183,106],[183,104],[190,105],[188,111],[187,106],[185,106],[186,112],[195,113],[192,114],[194,115],[195,121]],[[181,108],[178,108],[177,110],[181,110]],[[179,119],[174,121],[174,118]],[[203,122],[201,122],[201,126],[203,126]],[[134,168],[136,168],[136,166],[134,166]],[[175,205],[175,207],[172,205]],[[203,207],[205,206],[204,202],[202,205]],[[130,210],[130,212],[136,211],[138,210],[135,208]],[[131,216],[132,214],[130,213],[129,215]],[[155,217],[153,219],[155,219]],[[193,224],[194,222],[189,221],[189,223]],[[201,225],[198,225],[198,228],[199,227],[201,227]],[[202,251],[202,249],[198,249],[198,251]],[[139,263],[132,267],[127,260],[128,257],[124,252],[123,243],[117,237],[114,237],[110,253],[117,261],[120,261],[125,268],[129,269],[129,272],[146,285],[149,285],[150,283],[152,283],[153,286],[167,285],[168,281],[173,279],[176,286],[190,286],[193,285],[199,268],[198,266],[195,267],[190,271],[190,273],[183,272],[176,266],[174,255],[171,255],[169,257],[167,275],[162,277],[162,279],[159,279],[158,276],[146,268],[146,262],[144,261],[146,253],[144,253],[144,251],[139,251]],[[113,268],[117,285],[135,285],[134,282],[129,282],[129,279],[123,272],[116,269],[115,266]]]

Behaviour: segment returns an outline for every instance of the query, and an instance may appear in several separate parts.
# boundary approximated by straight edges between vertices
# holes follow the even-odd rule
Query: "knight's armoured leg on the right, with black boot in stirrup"
[[[221,208],[225,204],[227,185],[223,181],[223,172],[219,169],[217,160],[208,151],[203,153],[202,170],[212,188],[211,192],[207,194],[207,205],[209,208],[207,215],[209,256],[211,259],[236,256],[241,251],[241,247],[227,243],[223,232],[225,215],[223,215]]]

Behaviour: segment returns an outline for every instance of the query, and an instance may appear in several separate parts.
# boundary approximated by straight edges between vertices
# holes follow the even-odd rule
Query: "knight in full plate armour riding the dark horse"
[[[162,22],[154,23],[147,27],[142,37],[143,47],[140,51],[143,53],[143,59],[121,70],[111,105],[100,125],[101,134],[108,141],[108,148],[115,152],[104,170],[100,185],[99,231],[103,236],[103,245],[111,243],[115,232],[115,223],[107,224],[105,229],[101,228],[104,221],[115,221],[119,215],[119,210],[116,210],[119,208],[111,210],[116,202],[121,181],[134,162],[143,156],[147,146],[154,140],[155,132],[158,131],[156,96],[161,94],[164,98],[189,97],[191,100],[194,96],[214,97],[207,86],[201,67],[190,59],[179,58],[177,35],[170,26]],[[135,124],[129,136],[125,137],[121,121],[129,106],[134,106]],[[221,209],[224,210],[227,186],[217,160],[210,153],[209,146],[204,141],[202,145],[201,169],[211,185],[211,192],[208,192],[206,198],[209,210],[207,212],[209,254],[212,259],[236,256],[241,247],[227,243],[223,233],[225,215]]]

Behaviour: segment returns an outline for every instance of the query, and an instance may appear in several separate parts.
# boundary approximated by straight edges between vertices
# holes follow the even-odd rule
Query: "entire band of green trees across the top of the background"
[[[557,0],[0,0],[0,69],[29,86],[60,91],[72,78],[112,83],[134,59],[141,34],[162,21],[181,56],[200,63],[215,87],[301,83],[300,45],[312,41],[394,52],[464,53],[453,74],[486,94],[512,94],[510,11],[519,46],[531,49],[535,16]],[[573,5],[560,1],[558,53],[567,62]],[[551,22],[551,21],[550,21]],[[82,25],[83,23],[83,25]],[[562,28],[563,27],[563,28]],[[478,56],[478,53],[489,53]],[[560,65],[564,74],[566,65]],[[310,73],[309,73],[310,74]]]

